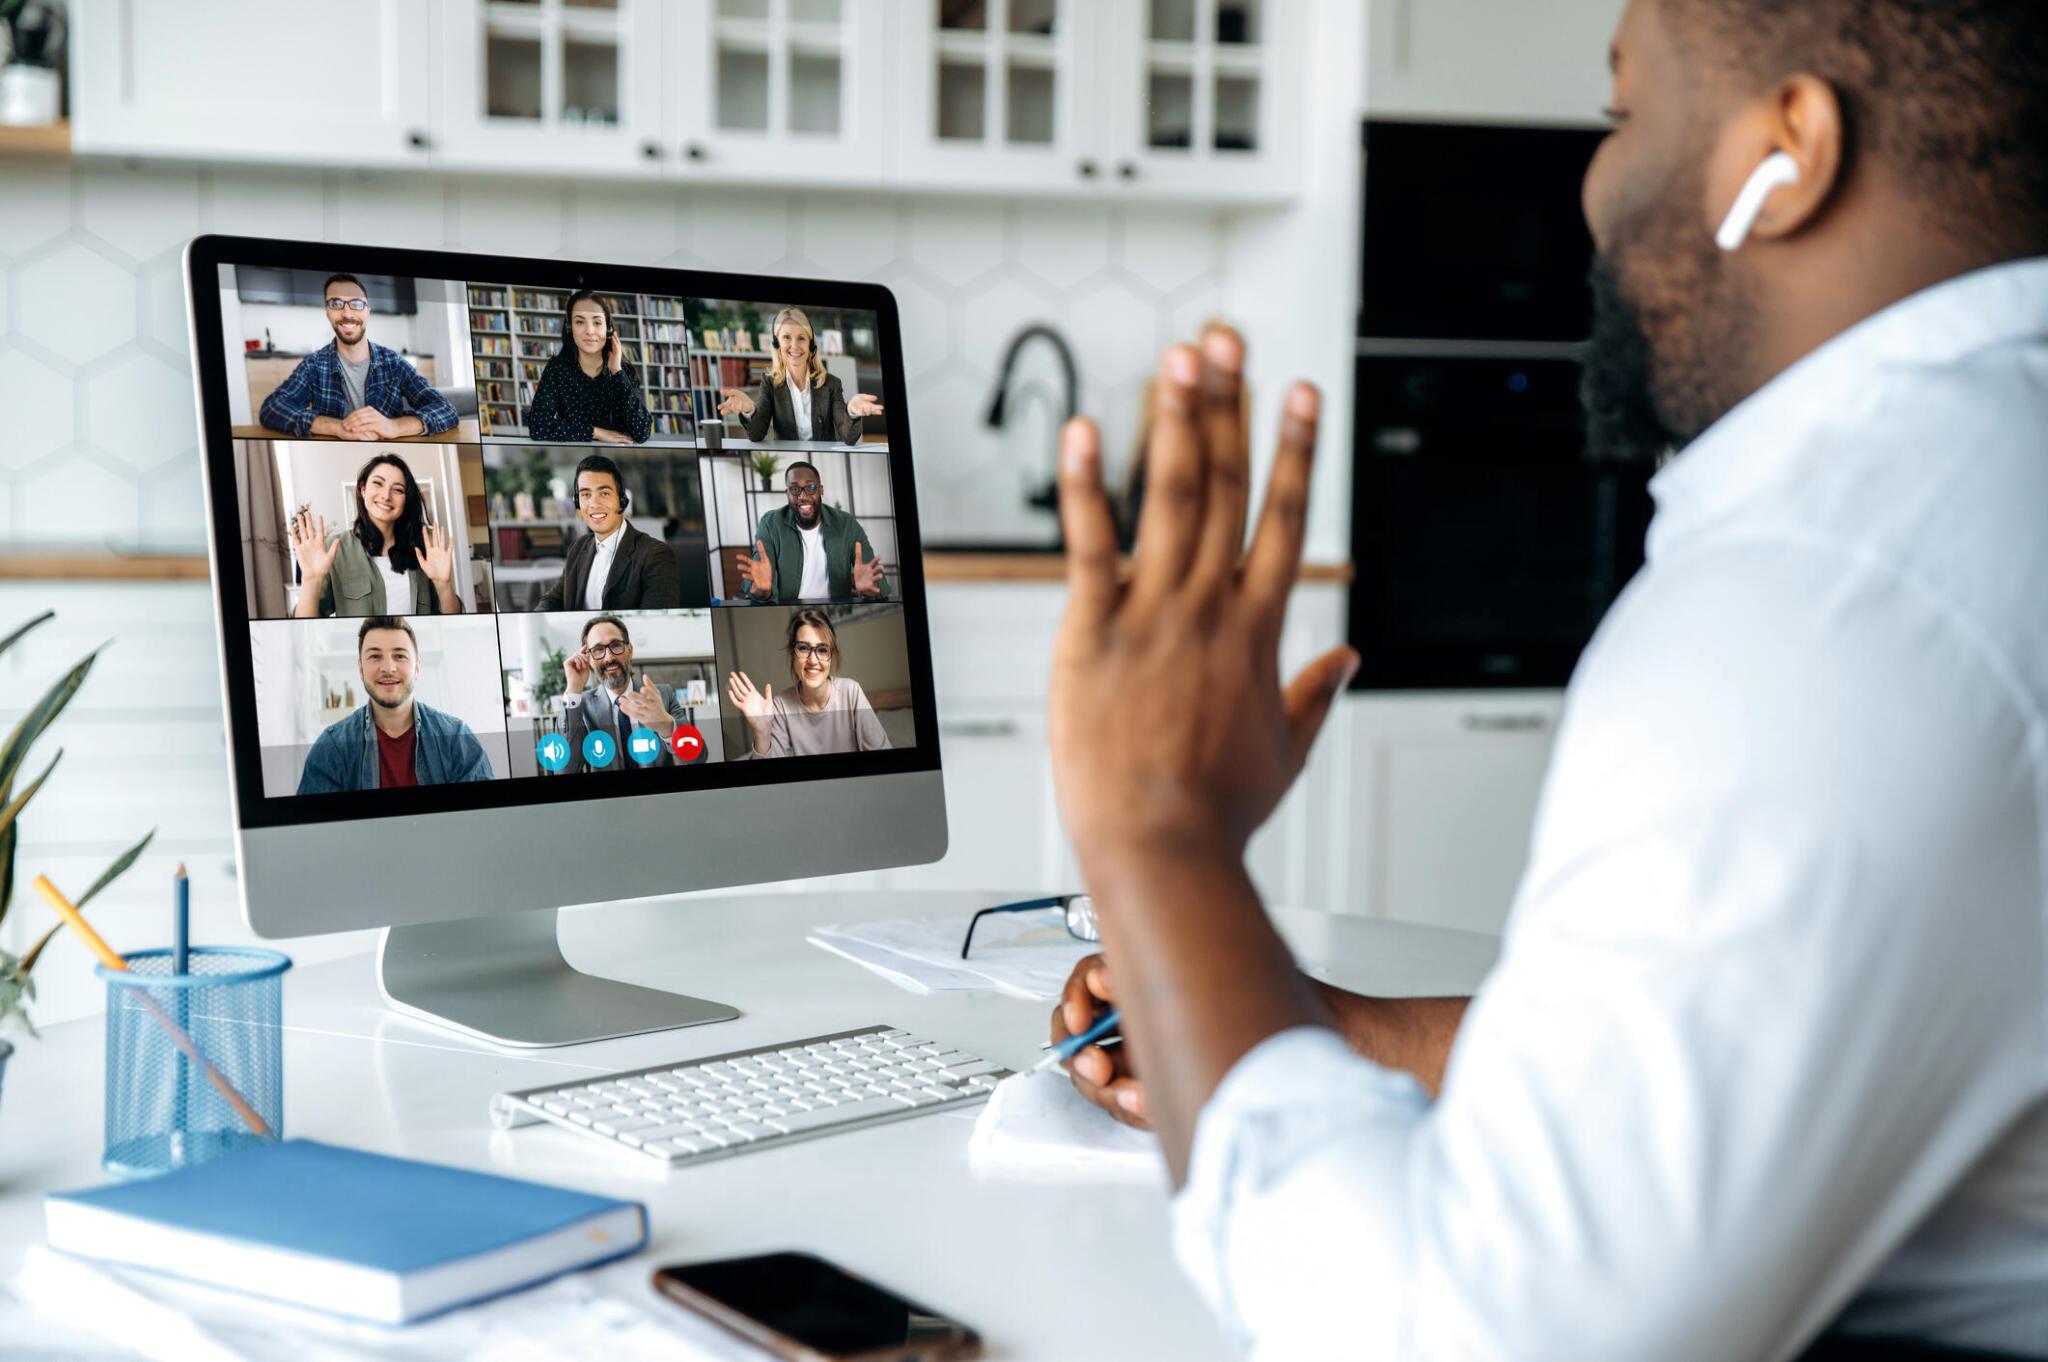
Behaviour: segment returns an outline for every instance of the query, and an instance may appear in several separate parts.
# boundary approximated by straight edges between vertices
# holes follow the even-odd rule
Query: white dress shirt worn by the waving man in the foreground
[[[1260,1358],[2048,1356],[2048,260],[1655,479],[1436,1104],[1245,1055],[1176,1247]]]

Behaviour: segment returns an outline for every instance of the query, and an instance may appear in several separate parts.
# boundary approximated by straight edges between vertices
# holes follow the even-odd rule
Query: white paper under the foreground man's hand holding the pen
[[[997,1083],[967,1137],[967,1159],[977,1174],[1165,1182],[1159,1139],[1092,1106],[1059,1069]]]

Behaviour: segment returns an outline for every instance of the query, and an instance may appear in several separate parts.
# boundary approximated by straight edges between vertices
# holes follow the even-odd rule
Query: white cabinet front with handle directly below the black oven
[[[1352,911],[1499,932],[1561,709],[1550,690],[1350,698]]]

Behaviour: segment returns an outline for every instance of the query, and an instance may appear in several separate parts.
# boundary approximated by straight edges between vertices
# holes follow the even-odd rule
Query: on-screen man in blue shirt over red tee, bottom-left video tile
[[[420,682],[420,641],[412,625],[391,614],[362,621],[356,672],[371,698],[313,739],[299,776],[301,795],[492,778],[489,758],[469,725],[412,698]]]

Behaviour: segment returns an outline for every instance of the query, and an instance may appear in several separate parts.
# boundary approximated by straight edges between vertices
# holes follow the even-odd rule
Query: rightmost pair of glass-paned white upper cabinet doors
[[[1274,0],[924,0],[899,10],[905,186],[1278,201],[1300,51]]]

